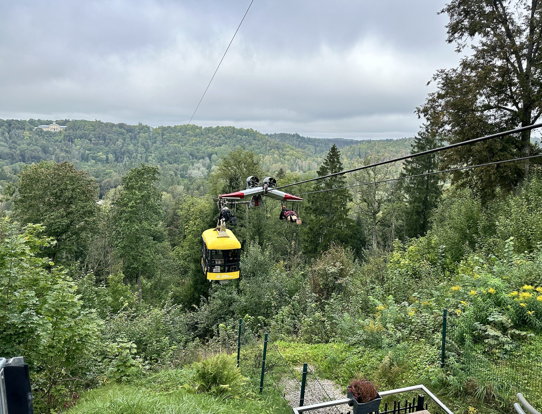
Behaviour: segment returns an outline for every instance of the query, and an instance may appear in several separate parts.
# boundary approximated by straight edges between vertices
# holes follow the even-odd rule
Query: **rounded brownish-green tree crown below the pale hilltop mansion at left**
[[[68,162],[42,161],[25,168],[17,183],[14,213],[22,224],[45,226],[55,243],[46,255],[67,262],[82,257],[98,215],[98,184]]]

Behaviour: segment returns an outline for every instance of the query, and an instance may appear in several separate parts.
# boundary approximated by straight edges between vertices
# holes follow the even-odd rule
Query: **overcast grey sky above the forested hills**
[[[188,122],[249,0],[0,3],[0,118]],[[459,57],[441,0],[254,0],[192,120],[413,136]]]

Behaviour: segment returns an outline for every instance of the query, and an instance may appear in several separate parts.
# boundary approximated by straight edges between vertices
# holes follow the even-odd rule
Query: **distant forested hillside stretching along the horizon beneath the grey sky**
[[[62,132],[34,129],[51,120],[0,120],[0,186],[16,181],[24,165],[42,160],[70,161],[98,180],[101,194],[118,185],[120,176],[140,162],[159,165],[167,183],[206,179],[231,150],[243,148],[261,156],[270,174],[316,170],[333,143],[339,144],[345,165],[375,155],[406,154],[410,139],[320,140],[298,134],[264,135],[235,127],[162,126],[59,120]],[[186,131],[185,131],[186,128]]]

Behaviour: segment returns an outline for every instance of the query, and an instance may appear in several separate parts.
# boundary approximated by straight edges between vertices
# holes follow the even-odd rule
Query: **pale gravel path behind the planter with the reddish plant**
[[[301,367],[295,367],[296,371],[301,371]],[[292,407],[299,405],[299,383],[294,379],[282,378],[281,385],[285,390],[285,398]],[[325,392],[324,392],[325,391]],[[326,395],[327,393],[327,395]],[[305,402],[303,405],[311,405],[331,401],[334,399],[346,398],[341,387],[335,384],[330,379],[315,380],[309,375],[307,377],[307,385],[305,387]],[[336,408],[336,410],[335,410]],[[312,411],[315,414],[330,413],[330,414],[350,414],[351,408],[349,405],[338,405],[326,409]]]

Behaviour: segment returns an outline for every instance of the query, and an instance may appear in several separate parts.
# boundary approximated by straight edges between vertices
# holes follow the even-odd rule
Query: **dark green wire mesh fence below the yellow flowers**
[[[480,396],[513,400],[521,392],[542,410],[542,354],[498,340],[476,341],[471,328],[458,316],[448,315],[446,325],[447,367],[460,369]]]

